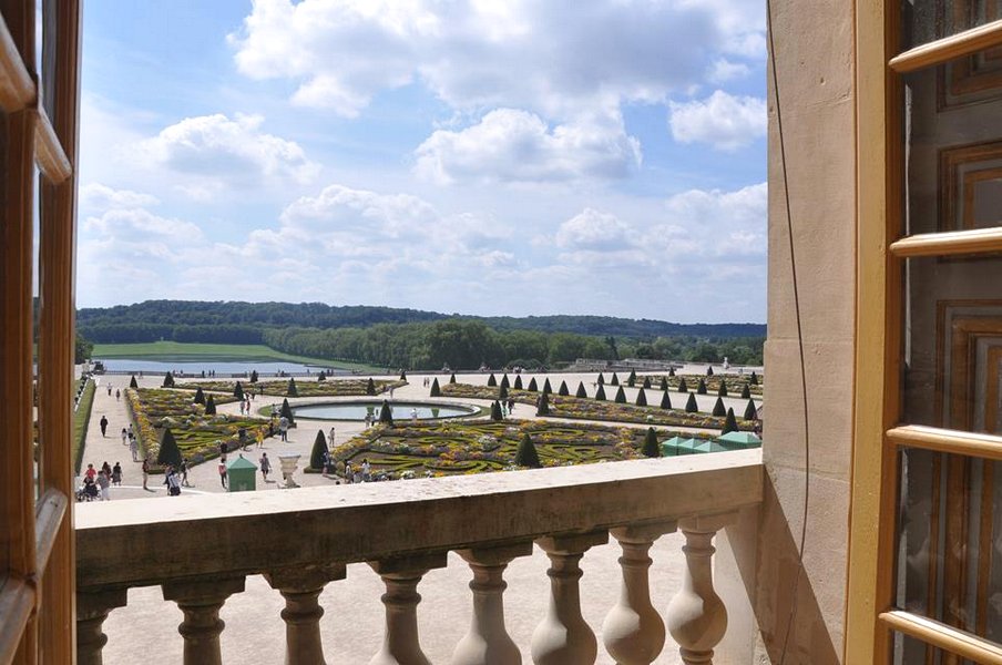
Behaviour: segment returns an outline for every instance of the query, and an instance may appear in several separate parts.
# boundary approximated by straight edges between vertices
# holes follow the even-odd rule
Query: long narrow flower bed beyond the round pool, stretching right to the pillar
[[[443,396],[472,399],[498,399],[500,393],[500,388],[471,386],[469,383],[446,383],[441,390]],[[606,391],[606,393],[609,392]],[[532,406],[535,406],[535,399],[539,397],[539,392],[529,392],[528,390],[509,390],[508,393],[517,402]],[[674,395],[672,398],[676,402],[679,401]],[[549,400],[550,416],[552,418],[637,422],[664,427],[699,427],[716,430],[724,428],[724,418],[709,416],[708,413],[686,413],[682,409],[662,409],[656,405],[648,407],[617,405],[611,399],[601,401],[593,398],[561,397],[552,392]],[[754,422],[743,420],[737,413],[735,416],[737,416],[738,429],[746,431],[755,429]]]

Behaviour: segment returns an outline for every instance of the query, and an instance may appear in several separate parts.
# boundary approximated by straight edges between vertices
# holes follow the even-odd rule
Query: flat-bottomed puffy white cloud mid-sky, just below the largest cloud
[[[564,182],[624,177],[640,166],[640,142],[622,119],[590,119],[549,127],[532,113],[491,111],[460,131],[438,130],[417,151],[415,172],[438,184]]]

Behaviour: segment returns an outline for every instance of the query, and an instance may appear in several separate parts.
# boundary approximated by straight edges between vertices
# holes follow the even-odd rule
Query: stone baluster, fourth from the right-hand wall
[[[512,559],[532,554],[532,543],[459,550],[470,564],[473,581],[473,622],[452,653],[452,665],[520,665],[522,655],[504,628],[501,595],[508,587],[504,569]]]

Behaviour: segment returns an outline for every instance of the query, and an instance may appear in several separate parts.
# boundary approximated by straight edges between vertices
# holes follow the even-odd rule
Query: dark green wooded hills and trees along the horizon
[[[555,367],[575,358],[761,362],[760,324],[672,324],[600,316],[473,317],[320,303],[146,300],[84,308],[91,342],[167,339],[265,344],[276,350],[390,368]]]

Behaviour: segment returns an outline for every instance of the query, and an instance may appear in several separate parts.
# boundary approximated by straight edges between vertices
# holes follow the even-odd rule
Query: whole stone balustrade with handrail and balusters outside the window
[[[182,611],[184,663],[223,663],[219,610],[263,575],[282,594],[286,663],[326,663],[318,597],[367,562],[382,579],[386,628],[372,665],[426,665],[418,583],[457,552],[470,566],[469,632],[452,665],[514,665],[505,630],[504,571],[533,543],[550,560],[549,608],[531,641],[538,665],[594,663],[600,641],[621,665],[650,665],[667,632],[687,664],[712,663],[727,628],[713,583],[714,535],[761,501],[759,451],[689,456],[362,485],[140,499],[81,504],[78,536],[78,662],[102,663],[109,613],[126,591],[160,586]],[[648,556],[681,531],[681,589],[664,621],[648,592]],[[622,549],[622,591],[601,640],[581,613],[580,562],[609,541]],[[276,617],[278,621],[279,617]],[[331,662],[342,662],[328,654]]]

